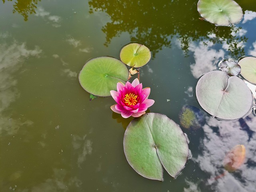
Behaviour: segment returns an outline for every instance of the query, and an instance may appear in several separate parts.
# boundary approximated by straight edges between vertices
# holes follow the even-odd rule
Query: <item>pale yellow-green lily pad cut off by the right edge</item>
[[[241,66],[241,75],[249,82],[256,84],[256,58],[244,57],[238,64]]]

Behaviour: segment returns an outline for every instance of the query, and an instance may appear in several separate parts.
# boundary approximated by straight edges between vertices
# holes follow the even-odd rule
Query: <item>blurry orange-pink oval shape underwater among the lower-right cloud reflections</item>
[[[243,163],[245,159],[245,147],[244,145],[237,145],[228,152],[223,160],[224,168],[228,172],[233,172],[237,170]]]

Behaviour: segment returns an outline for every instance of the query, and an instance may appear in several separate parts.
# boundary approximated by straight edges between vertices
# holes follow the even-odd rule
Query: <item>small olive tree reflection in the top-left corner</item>
[[[2,0],[2,1],[3,3],[5,3],[5,0]],[[8,1],[12,1],[12,0],[8,0]],[[28,14],[36,13],[36,5],[40,1],[41,0],[17,0],[13,5],[14,10],[12,12],[13,13],[18,12],[24,17],[24,20],[27,21]]]

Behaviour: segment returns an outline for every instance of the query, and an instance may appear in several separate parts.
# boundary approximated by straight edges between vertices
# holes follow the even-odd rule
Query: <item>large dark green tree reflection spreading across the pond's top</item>
[[[155,54],[163,47],[171,47],[176,36],[188,55],[190,42],[204,40],[227,43],[229,54],[238,58],[244,55],[243,44],[247,38],[234,36],[241,28],[215,26],[199,19],[197,2],[171,0],[89,0],[90,13],[106,12],[111,21],[103,26],[105,45],[122,32],[130,34],[132,42],[145,44]]]

